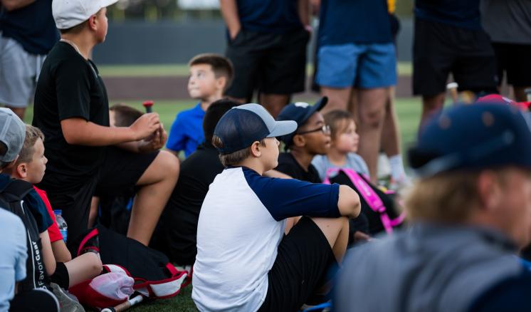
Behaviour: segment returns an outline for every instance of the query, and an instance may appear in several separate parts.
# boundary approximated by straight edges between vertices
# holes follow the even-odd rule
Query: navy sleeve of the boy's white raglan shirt
[[[297,216],[341,217],[337,207],[339,184],[262,177],[246,168],[243,174],[249,187],[277,221]]]

